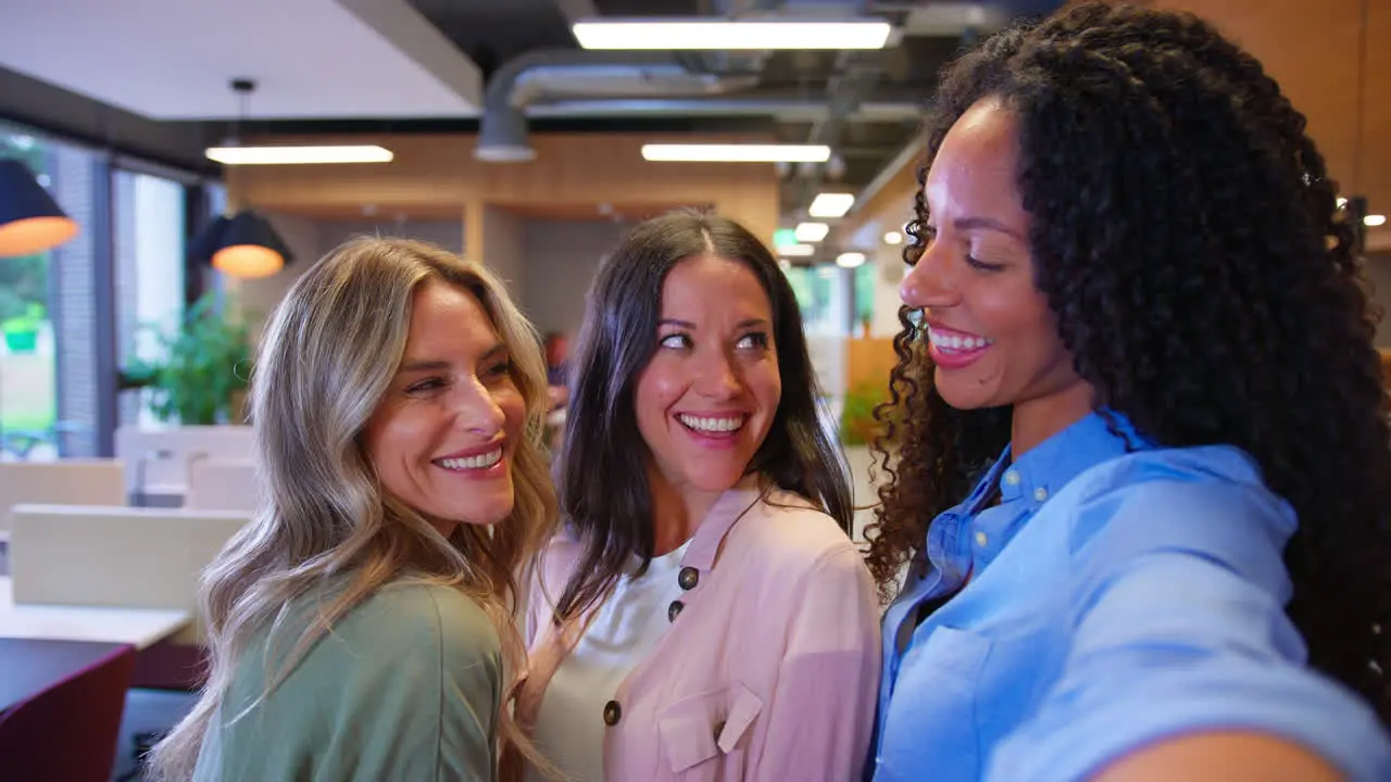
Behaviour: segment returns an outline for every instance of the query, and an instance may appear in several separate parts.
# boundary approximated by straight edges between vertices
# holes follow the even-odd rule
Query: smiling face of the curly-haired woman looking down
[[[1034,287],[1017,146],[1014,114],[992,99],[957,120],[924,188],[929,241],[900,292],[922,310],[947,404],[1015,405],[1017,422],[1029,406],[1066,410],[1059,415],[1075,420],[1091,408],[1092,392]]]

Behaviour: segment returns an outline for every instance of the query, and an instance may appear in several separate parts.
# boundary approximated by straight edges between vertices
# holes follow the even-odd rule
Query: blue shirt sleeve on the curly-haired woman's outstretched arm
[[[1370,708],[1305,667],[1283,604],[1292,512],[1251,484],[1148,481],[1079,506],[1063,676],[992,756],[992,781],[1086,779],[1155,742],[1255,731],[1351,779],[1391,779]]]

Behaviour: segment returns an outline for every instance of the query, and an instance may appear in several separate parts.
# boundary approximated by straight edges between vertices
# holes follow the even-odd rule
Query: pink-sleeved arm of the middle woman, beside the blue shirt
[[[879,689],[879,603],[860,554],[822,557],[801,589],[750,781],[858,778]],[[769,632],[775,629],[769,628]]]

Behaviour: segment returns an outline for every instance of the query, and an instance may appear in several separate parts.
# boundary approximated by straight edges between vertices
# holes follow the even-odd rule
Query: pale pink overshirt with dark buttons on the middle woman
[[[579,632],[556,628],[552,608],[580,551],[556,537],[531,579],[523,724]],[[879,686],[879,605],[835,520],[786,491],[726,491],[682,559],[680,584],[670,630],[602,714],[574,715],[608,725],[605,778],[858,778]]]

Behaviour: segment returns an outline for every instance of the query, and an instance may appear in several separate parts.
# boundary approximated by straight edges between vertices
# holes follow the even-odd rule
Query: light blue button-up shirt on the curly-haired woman
[[[1006,449],[932,522],[931,566],[885,614],[874,782],[1085,779],[1221,728],[1391,781],[1376,715],[1303,665],[1284,614],[1289,505],[1237,448],[1156,448],[1116,420],[1131,448],[1091,415]]]

